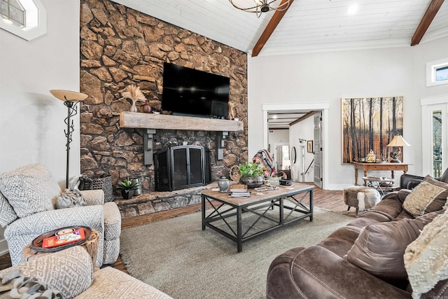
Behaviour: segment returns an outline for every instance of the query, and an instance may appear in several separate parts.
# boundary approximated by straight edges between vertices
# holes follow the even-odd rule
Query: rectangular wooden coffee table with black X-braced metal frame
[[[237,243],[237,250],[241,252],[243,242],[253,237],[303,218],[313,221],[314,186],[293,183],[262,194],[250,191],[250,197],[238,198],[229,197],[230,193],[203,190],[202,230],[209,227],[228,237]],[[307,199],[308,206],[304,205]],[[211,211],[205,210],[207,202],[211,204]]]

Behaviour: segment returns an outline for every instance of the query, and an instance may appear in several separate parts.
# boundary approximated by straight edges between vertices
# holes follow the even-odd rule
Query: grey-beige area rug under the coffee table
[[[314,208],[314,218],[285,225],[237,245],[202,230],[201,213],[123,230],[120,253],[133,277],[173,298],[265,298],[267,270],[276,256],[311,246],[353,217]]]

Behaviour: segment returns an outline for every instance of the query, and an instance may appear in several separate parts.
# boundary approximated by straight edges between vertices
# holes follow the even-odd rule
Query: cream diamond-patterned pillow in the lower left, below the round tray
[[[0,272],[20,270],[21,276],[33,277],[47,289],[58,290],[63,298],[73,298],[92,284],[93,265],[89,253],[81,246],[57,251],[29,260]]]

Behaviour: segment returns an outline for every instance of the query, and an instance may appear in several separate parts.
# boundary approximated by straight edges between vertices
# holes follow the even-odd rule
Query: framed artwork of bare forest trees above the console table
[[[342,98],[342,164],[362,161],[373,150],[386,160],[387,144],[403,131],[403,97]]]

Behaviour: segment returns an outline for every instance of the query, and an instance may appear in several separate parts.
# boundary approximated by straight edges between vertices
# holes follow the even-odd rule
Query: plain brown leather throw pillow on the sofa
[[[380,279],[406,279],[403,261],[406,246],[440,213],[442,211],[414,219],[367,225],[344,258]]]

